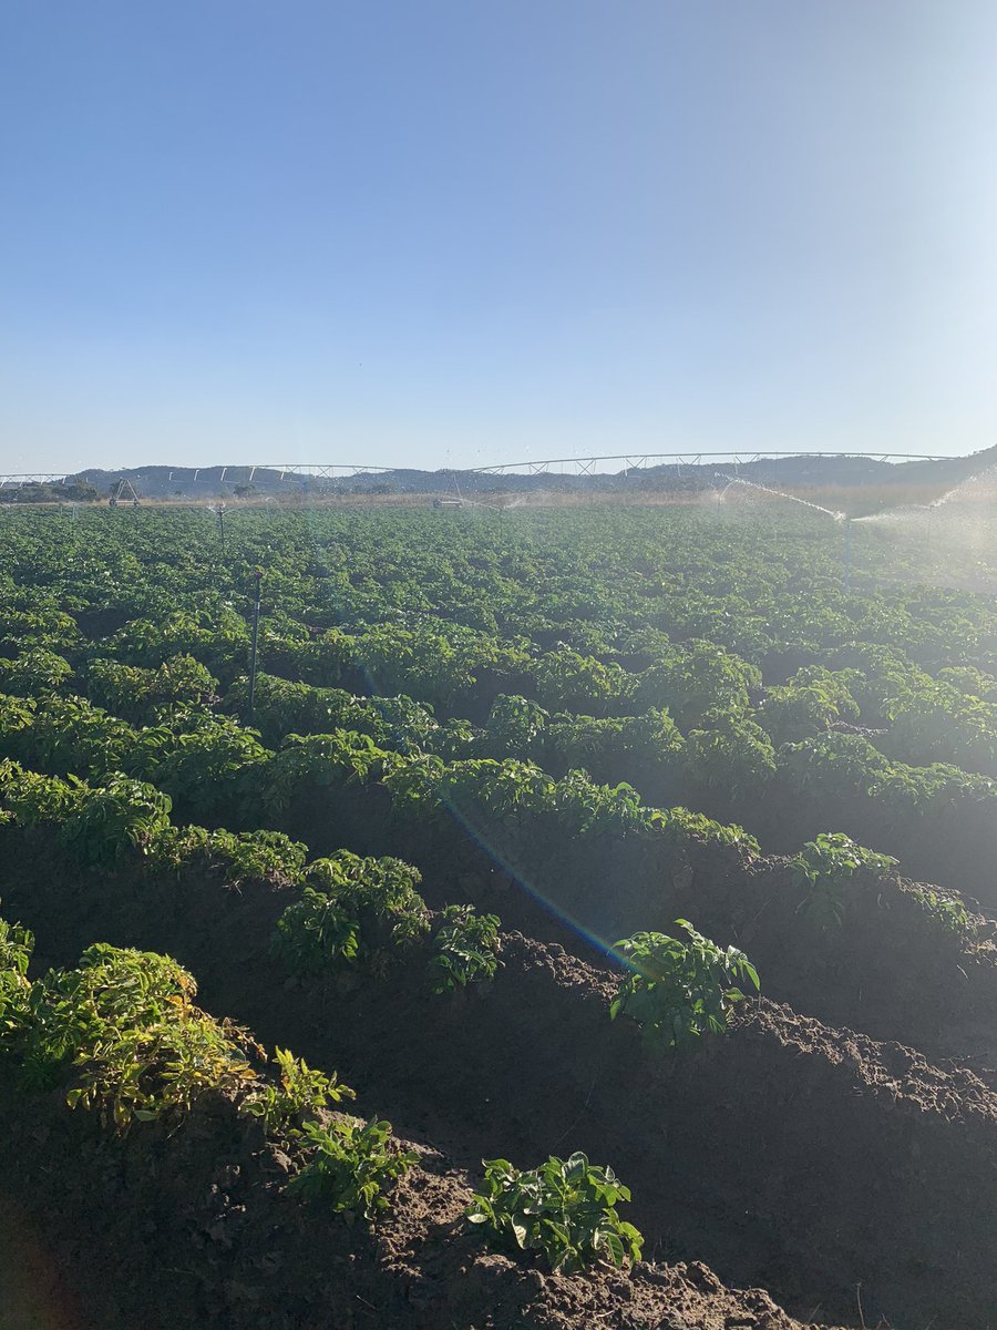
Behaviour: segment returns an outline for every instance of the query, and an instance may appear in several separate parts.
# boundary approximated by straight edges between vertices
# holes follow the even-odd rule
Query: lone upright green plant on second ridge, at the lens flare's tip
[[[686,919],[675,923],[689,940],[663,932],[635,932],[615,944],[629,966],[609,1013],[641,1024],[653,1048],[673,1048],[727,1028],[731,1008],[747,996],[738,983],[758,991],[758,971],[736,947],[722,950]]]

